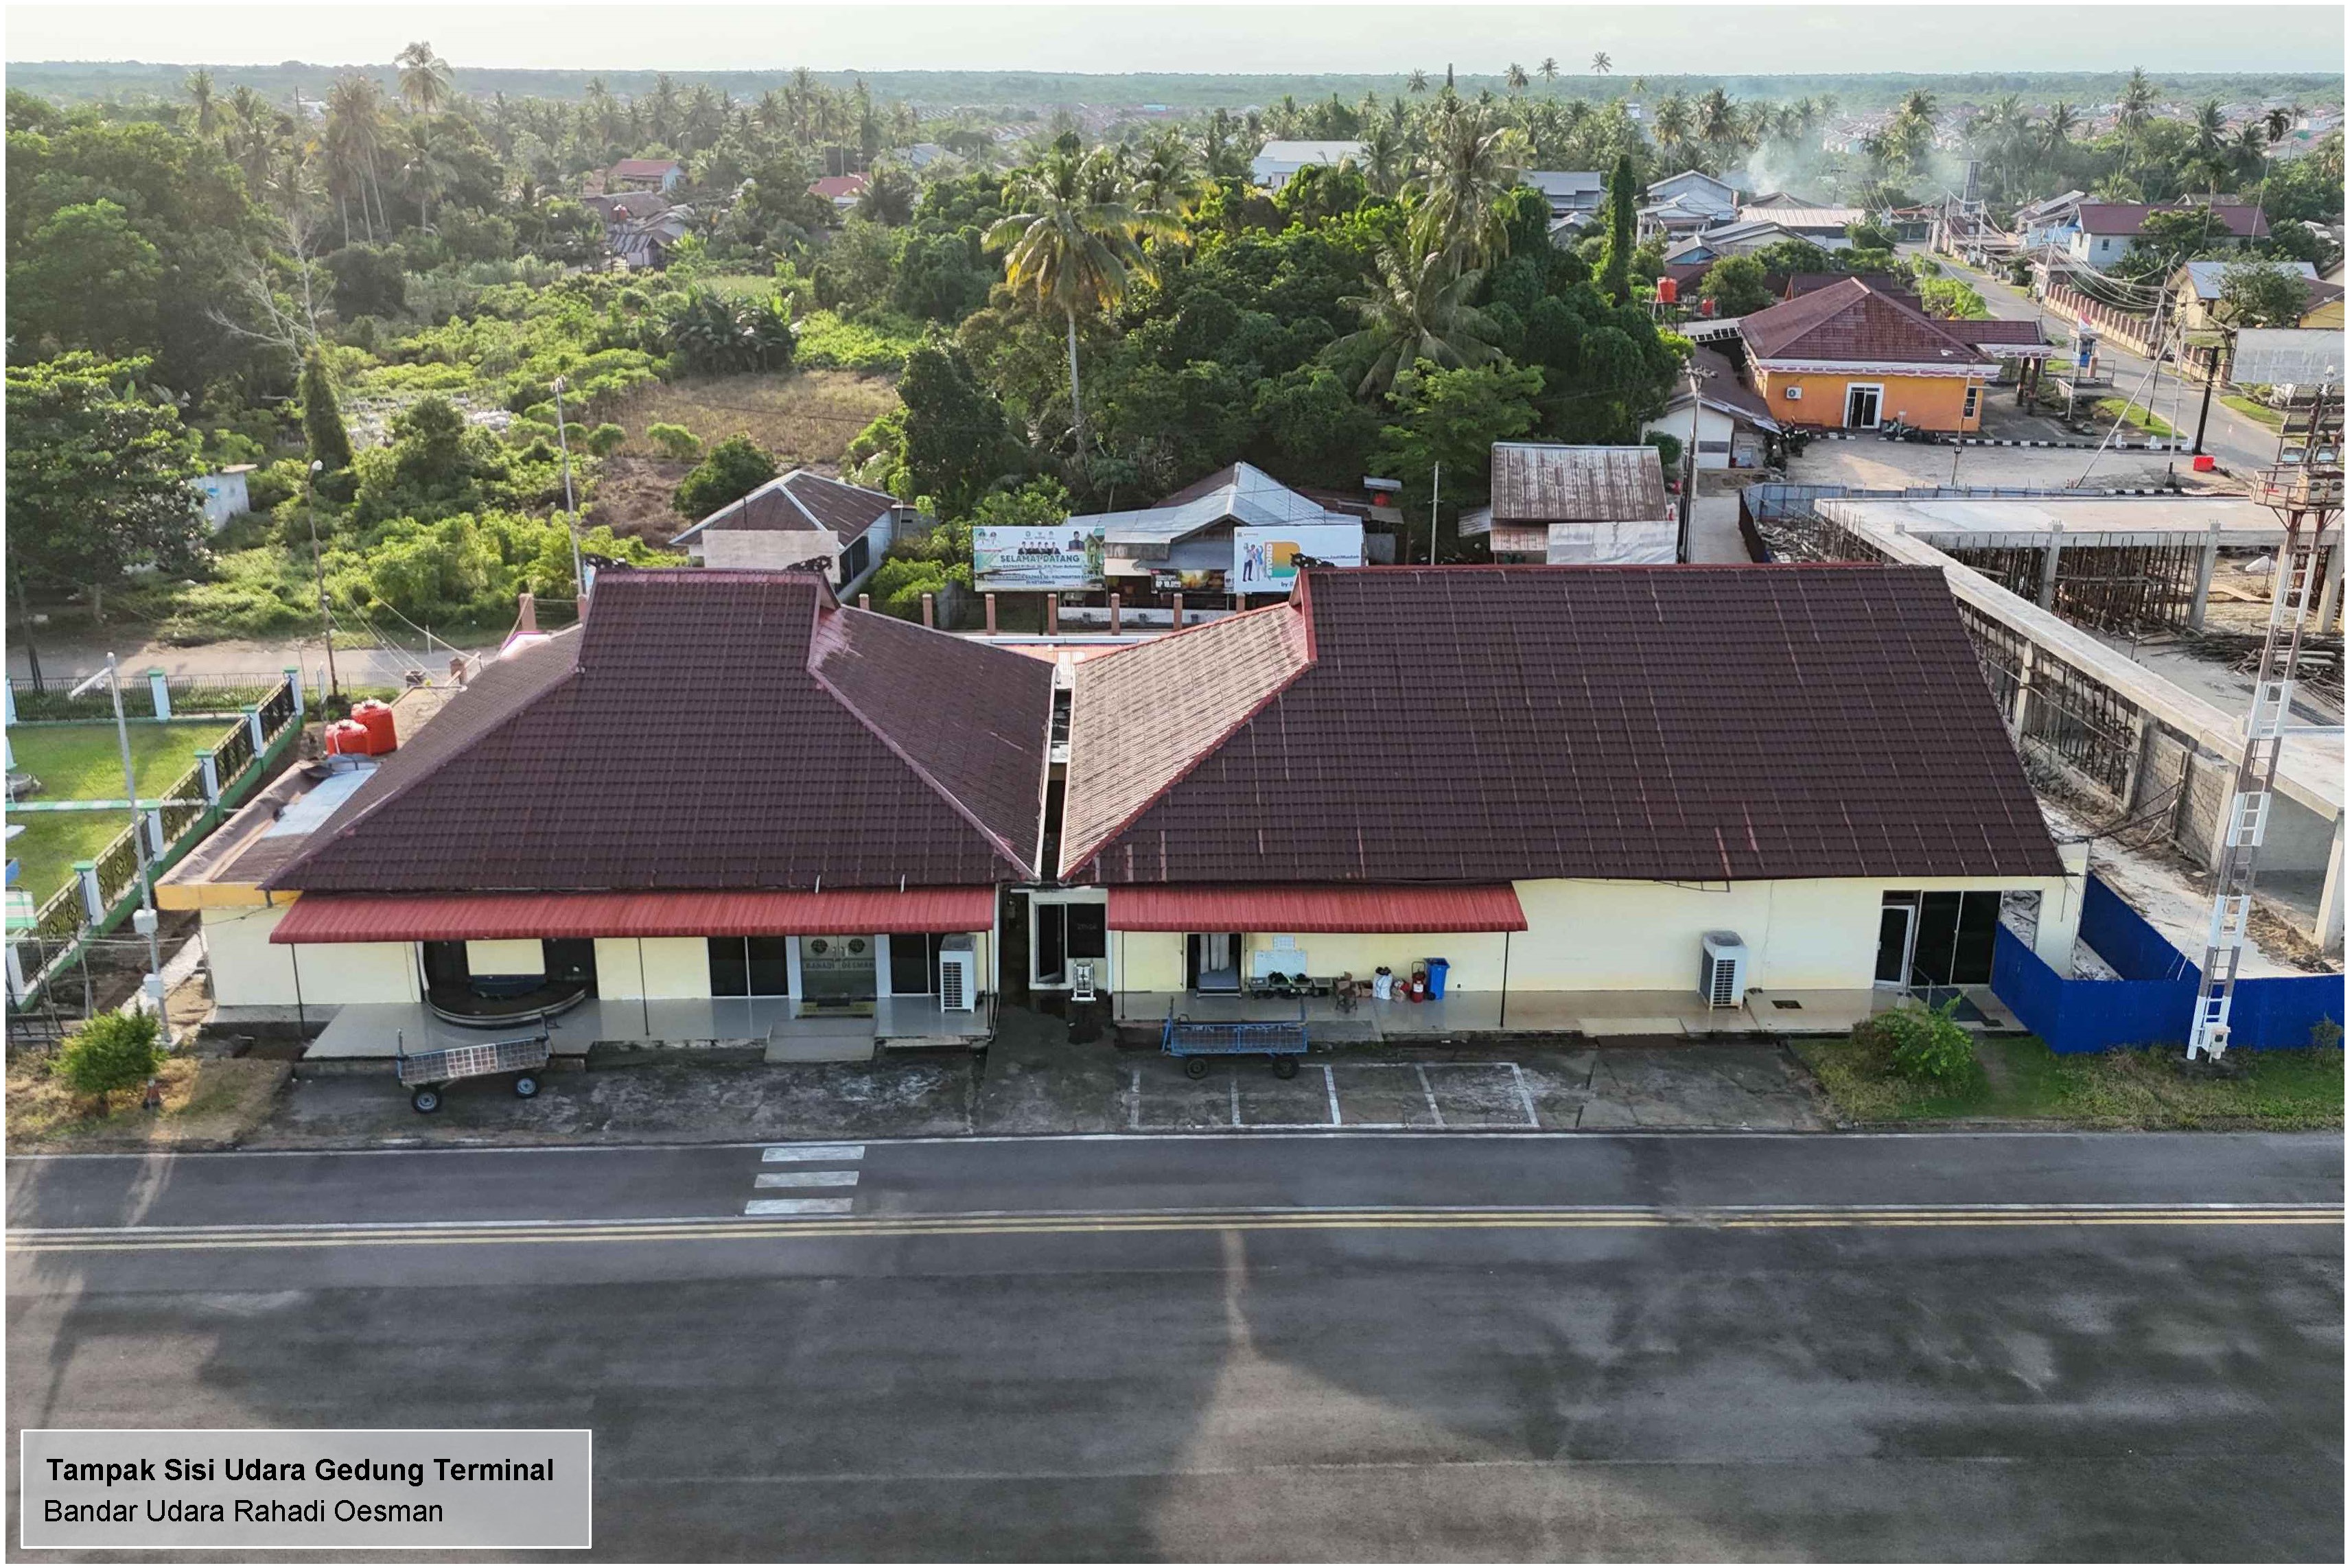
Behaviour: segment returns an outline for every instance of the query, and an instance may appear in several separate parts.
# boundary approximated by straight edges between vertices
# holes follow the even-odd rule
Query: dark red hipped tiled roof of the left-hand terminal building
[[[266,886],[976,886],[1037,856],[1054,668],[802,571],[604,571]]]

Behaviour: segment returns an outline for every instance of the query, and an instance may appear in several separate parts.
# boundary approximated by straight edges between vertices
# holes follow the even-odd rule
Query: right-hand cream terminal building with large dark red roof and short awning
[[[1780,997],[1985,985],[2004,896],[2074,940],[1933,569],[1317,569],[1073,677],[1051,898],[1129,1018],[1437,957],[1472,1027],[1670,1011],[1710,940]]]

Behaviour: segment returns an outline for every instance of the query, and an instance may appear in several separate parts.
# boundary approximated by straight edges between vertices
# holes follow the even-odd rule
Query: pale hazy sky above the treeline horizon
[[[367,63],[430,40],[456,66],[644,71],[1618,75],[2345,68],[2343,5],[9,5],[7,59]]]

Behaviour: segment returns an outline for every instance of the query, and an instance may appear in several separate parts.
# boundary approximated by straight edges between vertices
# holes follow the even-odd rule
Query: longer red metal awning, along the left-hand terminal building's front
[[[303,893],[273,943],[988,931],[995,889],[828,893]]]

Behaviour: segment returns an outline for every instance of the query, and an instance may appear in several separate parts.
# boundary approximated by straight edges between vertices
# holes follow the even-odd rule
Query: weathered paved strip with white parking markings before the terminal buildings
[[[774,1065],[699,1051],[600,1053],[583,1072],[550,1072],[532,1100],[503,1084],[461,1084],[433,1117],[409,1110],[388,1067],[301,1067],[247,1147],[1830,1126],[1828,1100],[1780,1044],[1371,1044],[1315,1051],[1296,1079],[1277,1079],[1261,1058],[1188,1079],[1157,1051],[1120,1051],[1108,1037],[1073,1044],[1058,1018],[1016,1011],[985,1058]]]

